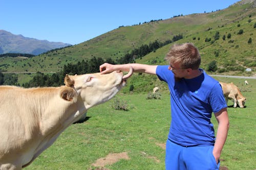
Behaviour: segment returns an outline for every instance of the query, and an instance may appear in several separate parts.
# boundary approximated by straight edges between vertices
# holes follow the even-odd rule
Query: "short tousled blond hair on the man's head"
[[[181,68],[198,69],[201,64],[201,56],[193,43],[174,44],[165,60],[169,64],[180,63]]]

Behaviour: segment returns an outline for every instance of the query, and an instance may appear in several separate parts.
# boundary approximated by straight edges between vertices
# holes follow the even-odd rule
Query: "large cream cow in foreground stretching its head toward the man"
[[[0,169],[28,166],[88,109],[113,98],[132,73],[66,75],[60,87],[0,86]]]

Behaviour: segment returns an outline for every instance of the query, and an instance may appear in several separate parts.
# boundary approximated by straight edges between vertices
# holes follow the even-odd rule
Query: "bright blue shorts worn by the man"
[[[212,150],[214,146],[182,147],[169,139],[166,141],[166,170],[219,169]]]

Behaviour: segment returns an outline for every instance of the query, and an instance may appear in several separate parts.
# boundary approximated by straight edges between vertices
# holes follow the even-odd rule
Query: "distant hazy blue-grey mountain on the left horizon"
[[[71,44],[37,40],[34,38],[24,37],[23,35],[14,35],[5,30],[0,30],[0,54],[26,53],[39,55],[49,50],[69,45]]]

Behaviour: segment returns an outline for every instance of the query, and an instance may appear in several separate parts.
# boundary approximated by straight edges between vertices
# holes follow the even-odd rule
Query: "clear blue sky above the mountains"
[[[225,9],[238,0],[0,0],[0,30],[78,44],[119,26]]]

